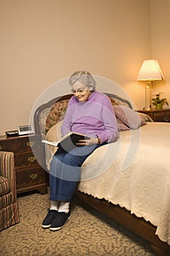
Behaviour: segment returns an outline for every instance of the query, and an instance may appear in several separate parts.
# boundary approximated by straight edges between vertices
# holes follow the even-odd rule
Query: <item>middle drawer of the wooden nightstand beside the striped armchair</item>
[[[15,154],[15,169],[34,167],[35,165],[39,165],[40,161],[41,157],[38,156],[38,154],[36,154],[35,157],[32,151],[23,154]]]

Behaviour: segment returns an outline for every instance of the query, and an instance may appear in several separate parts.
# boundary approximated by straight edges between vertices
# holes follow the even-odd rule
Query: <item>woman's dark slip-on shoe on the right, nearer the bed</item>
[[[70,212],[66,214],[65,212],[58,212],[57,216],[50,225],[50,230],[56,231],[60,230],[66,222],[70,219]]]

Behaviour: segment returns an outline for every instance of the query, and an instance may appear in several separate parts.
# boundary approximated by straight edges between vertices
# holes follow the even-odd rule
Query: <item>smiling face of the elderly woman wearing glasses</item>
[[[72,92],[80,102],[85,102],[86,100],[88,100],[88,97],[90,97],[93,91],[90,91],[90,88],[88,86],[85,86],[85,84],[77,80],[72,85]]]

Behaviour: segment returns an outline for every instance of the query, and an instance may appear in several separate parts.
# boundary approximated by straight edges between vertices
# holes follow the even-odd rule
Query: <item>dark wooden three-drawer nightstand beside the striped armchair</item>
[[[37,190],[42,195],[47,194],[45,170],[41,166],[39,135],[0,136],[0,150],[12,151],[15,154],[18,194],[31,190]]]

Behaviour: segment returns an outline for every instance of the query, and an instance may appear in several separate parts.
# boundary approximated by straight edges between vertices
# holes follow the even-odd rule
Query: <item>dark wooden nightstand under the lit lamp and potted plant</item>
[[[160,110],[138,110],[138,112],[147,114],[153,119],[153,121],[170,123],[170,108],[163,108]]]

